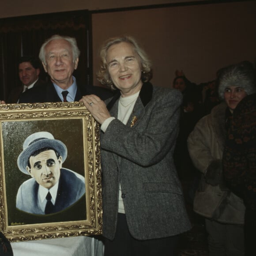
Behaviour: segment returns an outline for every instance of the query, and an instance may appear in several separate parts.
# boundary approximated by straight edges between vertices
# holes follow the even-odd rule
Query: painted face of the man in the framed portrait
[[[31,177],[34,177],[38,184],[45,188],[52,188],[60,178],[62,167],[61,156],[57,158],[55,151],[46,150],[36,156],[30,156],[30,166],[26,169]]]

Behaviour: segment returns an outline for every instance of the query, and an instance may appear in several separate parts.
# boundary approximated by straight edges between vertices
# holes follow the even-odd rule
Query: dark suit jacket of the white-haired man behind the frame
[[[81,86],[77,83],[77,91],[75,101],[79,101],[83,95],[95,94],[102,100],[105,100],[113,95],[113,93],[103,87],[96,86]],[[44,86],[32,88],[24,92],[19,103],[44,103],[44,102],[61,102],[52,82],[46,83]]]

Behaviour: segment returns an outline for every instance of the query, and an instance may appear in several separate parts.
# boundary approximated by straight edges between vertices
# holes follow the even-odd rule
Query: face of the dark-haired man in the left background
[[[30,62],[22,62],[19,64],[19,79],[26,85],[34,83],[38,79],[40,73],[39,68],[34,68]]]

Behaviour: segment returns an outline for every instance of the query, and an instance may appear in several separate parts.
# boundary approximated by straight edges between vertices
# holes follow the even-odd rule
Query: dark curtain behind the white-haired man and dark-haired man
[[[76,38],[81,53],[74,75],[84,85],[90,83],[89,30],[90,20],[85,10],[0,19],[0,100],[6,99],[11,89],[20,85],[19,57],[38,56],[42,43],[53,34]],[[43,68],[40,76],[48,79]]]

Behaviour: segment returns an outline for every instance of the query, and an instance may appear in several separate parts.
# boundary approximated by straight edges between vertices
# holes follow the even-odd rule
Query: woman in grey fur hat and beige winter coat
[[[224,102],[199,120],[188,137],[192,162],[203,173],[194,211],[205,217],[210,256],[242,256],[245,206],[223,181],[222,154],[233,110],[245,96],[256,92],[254,68],[244,61],[222,68],[217,76]]]

